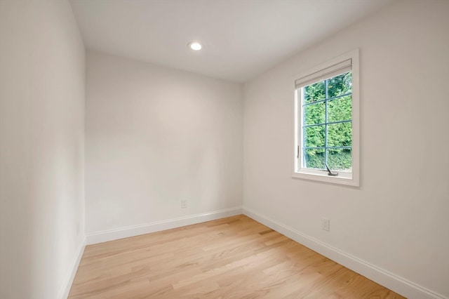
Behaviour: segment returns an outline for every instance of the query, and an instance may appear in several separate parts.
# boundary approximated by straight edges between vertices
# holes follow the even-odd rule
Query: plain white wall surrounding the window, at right
[[[396,1],[248,82],[243,95],[244,208],[445,296],[448,15],[448,1]],[[354,48],[361,187],[291,178],[293,77]]]

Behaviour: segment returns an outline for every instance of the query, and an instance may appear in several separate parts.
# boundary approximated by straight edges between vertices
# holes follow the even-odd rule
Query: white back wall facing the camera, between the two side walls
[[[241,84],[93,51],[86,61],[87,234],[241,206]]]

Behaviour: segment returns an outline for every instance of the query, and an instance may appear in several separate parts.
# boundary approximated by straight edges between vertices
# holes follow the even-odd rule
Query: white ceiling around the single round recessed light
[[[244,82],[391,0],[71,0],[86,47]],[[203,50],[187,48],[200,41]]]

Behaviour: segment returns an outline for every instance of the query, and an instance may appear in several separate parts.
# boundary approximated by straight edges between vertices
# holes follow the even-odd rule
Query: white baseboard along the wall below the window
[[[310,248],[311,250],[326,256],[326,258],[330,258],[330,260],[333,260],[336,263],[339,263],[340,265],[343,265],[344,267],[347,267],[350,270],[353,270],[354,272],[357,272],[358,274],[361,274],[364,277],[377,282],[377,284],[385,286],[390,290],[405,296],[406,298],[448,299],[448,297],[435,293],[434,291],[424,288],[423,286],[419,286],[412,281],[408,281],[407,279],[398,277],[396,274],[372,265],[365,260],[356,258],[349,253],[340,251],[340,249],[329,246],[328,244],[314,239],[307,234],[298,232],[297,230],[294,230],[287,225],[283,225],[281,222],[270,219],[265,215],[257,213],[250,208],[246,208],[243,206],[243,214],[247,215],[250,218],[253,218],[263,225],[267,225],[267,227],[276,230],[276,232],[280,232],[286,237],[297,241],[298,243]]]

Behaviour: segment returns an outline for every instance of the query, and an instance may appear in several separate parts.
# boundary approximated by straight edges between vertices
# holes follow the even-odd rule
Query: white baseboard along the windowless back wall
[[[176,227],[186,225],[194,225],[196,223],[217,220],[220,218],[230,217],[241,214],[241,206],[236,208],[227,208],[220,211],[189,215],[180,218],[162,220],[157,222],[145,223],[142,225],[133,225],[129,227],[121,227],[116,230],[104,230],[94,232],[87,235],[87,244],[97,244],[117,239],[138,236],[140,234],[149,234],[150,232],[160,232],[161,230],[170,230]]]

